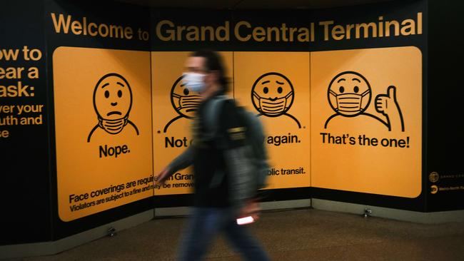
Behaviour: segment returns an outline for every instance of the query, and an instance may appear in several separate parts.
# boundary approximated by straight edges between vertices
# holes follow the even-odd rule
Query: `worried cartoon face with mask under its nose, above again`
[[[293,86],[281,73],[265,73],[251,89],[251,100],[264,116],[277,117],[288,111],[293,103]]]

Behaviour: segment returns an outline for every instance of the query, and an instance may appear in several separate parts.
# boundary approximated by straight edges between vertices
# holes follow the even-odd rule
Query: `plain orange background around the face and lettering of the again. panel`
[[[287,116],[260,116],[268,136],[298,135],[300,143],[273,145],[266,143],[271,168],[277,170],[303,168],[305,174],[271,175],[267,188],[298,188],[311,184],[310,170],[310,108],[309,108],[309,53],[292,52],[235,52],[234,82],[235,97],[248,110],[258,114],[251,101],[253,83],[264,73],[277,72],[286,76],[292,83],[295,94]]]

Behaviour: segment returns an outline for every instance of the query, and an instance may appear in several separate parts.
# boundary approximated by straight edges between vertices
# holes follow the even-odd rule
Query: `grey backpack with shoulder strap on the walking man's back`
[[[211,128],[211,133],[216,133],[217,125],[214,124],[218,121],[218,114],[221,112],[223,103],[232,100],[228,96],[220,95],[213,98],[208,106],[208,113],[205,116],[205,123]],[[246,108],[236,106],[238,114],[241,117],[244,126],[246,127],[246,144],[251,145],[251,165],[253,168],[253,183],[256,190],[266,187],[266,180],[268,178],[268,154],[264,145],[265,135],[264,129],[259,118],[248,111]],[[218,177],[217,177],[218,178]],[[215,179],[213,179],[215,180]]]

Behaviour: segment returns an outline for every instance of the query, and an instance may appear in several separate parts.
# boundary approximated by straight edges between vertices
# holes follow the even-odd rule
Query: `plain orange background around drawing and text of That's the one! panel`
[[[388,131],[372,118],[356,116],[324,123],[334,114],[327,91],[343,71],[363,75],[372,88],[367,113],[375,111],[375,96],[396,87],[405,132]],[[420,194],[422,164],[422,54],[415,47],[373,48],[311,53],[311,178],[312,186],[360,193],[415,198]],[[365,135],[370,138],[410,138],[409,148],[322,143],[320,133]]]

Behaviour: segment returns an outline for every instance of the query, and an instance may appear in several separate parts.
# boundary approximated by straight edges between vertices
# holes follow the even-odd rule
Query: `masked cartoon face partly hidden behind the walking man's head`
[[[186,84],[182,81],[184,77],[181,76],[173,84],[171,88],[171,103],[179,115],[193,118],[198,106],[200,106],[201,96],[197,92],[187,88]]]

